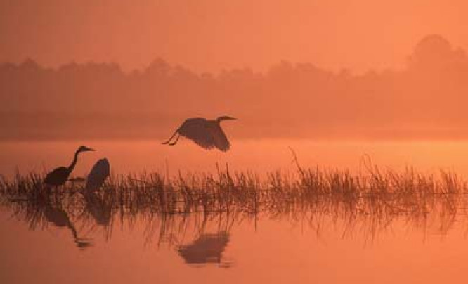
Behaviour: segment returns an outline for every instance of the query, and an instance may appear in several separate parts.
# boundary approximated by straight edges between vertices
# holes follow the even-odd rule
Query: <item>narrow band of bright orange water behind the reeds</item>
[[[44,172],[68,165],[80,145],[96,148],[84,153],[74,170],[83,176],[96,160],[107,157],[112,172],[160,171],[216,172],[216,163],[228,163],[230,168],[254,172],[276,169],[294,170],[290,148],[306,167],[329,167],[359,170],[363,156],[372,157],[380,167],[404,169],[413,166],[420,172],[434,173],[450,169],[468,176],[468,141],[307,141],[264,140],[233,141],[227,153],[203,150],[190,141],[177,146],[161,145],[158,141],[74,141],[74,142],[1,142],[0,174],[11,176],[15,169],[22,173]]]

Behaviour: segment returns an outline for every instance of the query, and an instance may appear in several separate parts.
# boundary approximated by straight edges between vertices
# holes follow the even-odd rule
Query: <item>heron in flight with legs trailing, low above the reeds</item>
[[[218,148],[226,152],[230,148],[230,143],[221,125],[219,125],[223,120],[235,120],[235,118],[226,115],[218,117],[216,120],[206,120],[201,117],[189,118],[172,134],[168,141],[162,142],[162,144],[174,146],[178,138],[184,136],[197,143],[197,145],[202,148]],[[176,136],[176,140],[171,142],[174,136]]]

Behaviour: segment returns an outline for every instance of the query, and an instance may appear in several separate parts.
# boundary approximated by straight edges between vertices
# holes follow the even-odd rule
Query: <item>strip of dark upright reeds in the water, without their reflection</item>
[[[43,175],[16,174],[0,179],[0,199],[5,204],[20,200],[77,201],[84,192],[82,183],[48,188]],[[230,212],[240,210],[278,212],[307,209],[322,200],[334,206],[359,207],[368,212],[426,212],[435,200],[453,207],[467,193],[467,184],[456,174],[441,172],[423,175],[407,168],[403,172],[368,167],[365,174],[344,170],[303,169],[297,172],[231,172],[228,166],[216,174],[181,174],[168,178],[160,173],[110,176],[98,192],[112,207],[127,214],[152,212]],[[375,211],[375,212],[377,212]]]

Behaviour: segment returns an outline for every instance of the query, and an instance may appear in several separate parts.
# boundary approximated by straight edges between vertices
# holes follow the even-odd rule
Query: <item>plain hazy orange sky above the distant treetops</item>
[[[157,57],[197,71],[280,60],[363,71],[398,67],[426,34],[468,49],[464,0],[45,0],[0,2],[0,61]]]

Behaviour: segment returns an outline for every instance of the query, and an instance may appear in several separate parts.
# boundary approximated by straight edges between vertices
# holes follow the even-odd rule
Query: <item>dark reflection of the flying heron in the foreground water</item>
[[[218,264],[220,267],[230,267],[232,263],[223,261],[223,252],[229,243],[228,231],[204,234],[190,245],[178,246],[178,254],[186,264],[202,266],[204,264]]]

